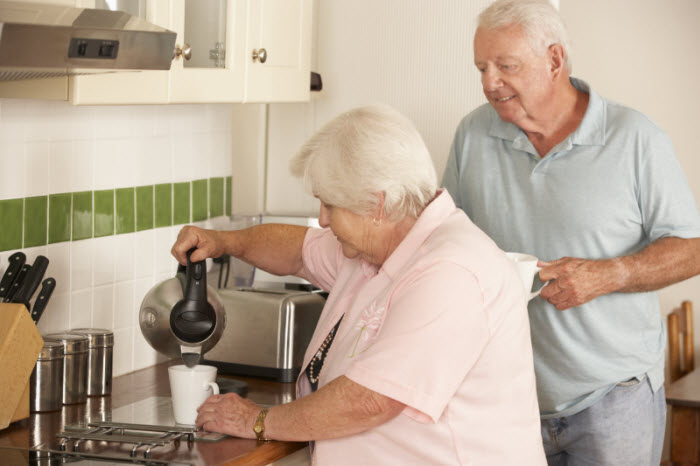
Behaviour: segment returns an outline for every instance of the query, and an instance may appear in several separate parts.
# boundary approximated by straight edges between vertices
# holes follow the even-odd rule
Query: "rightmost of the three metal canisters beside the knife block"
[[[104,396],[112,393],[112,352],[114,333],[102,328],[76,328],[70,333],[88,337],[88,396]]]

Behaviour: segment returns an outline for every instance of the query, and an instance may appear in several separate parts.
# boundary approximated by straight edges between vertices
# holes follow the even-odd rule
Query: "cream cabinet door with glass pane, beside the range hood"
[[[189,49],[170,70],[171,103],[242,102],[246,4],[243,0],[176,0],[176,43]]]

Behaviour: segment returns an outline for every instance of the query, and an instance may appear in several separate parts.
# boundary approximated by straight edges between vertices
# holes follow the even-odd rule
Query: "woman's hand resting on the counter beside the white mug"
[[[197,409],[197,427],[240,438],[255,438],[253,426],[262,408],[235,393],[212,395]]]

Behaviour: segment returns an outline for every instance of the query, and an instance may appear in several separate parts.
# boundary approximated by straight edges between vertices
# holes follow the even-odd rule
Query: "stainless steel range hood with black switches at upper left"
[[[0,81],[169,70],[175,37],[121,11],[0,1]]]

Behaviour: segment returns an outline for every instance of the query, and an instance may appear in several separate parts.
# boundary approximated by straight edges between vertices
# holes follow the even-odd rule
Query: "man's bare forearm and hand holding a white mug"
[[[608,293],[654,291],[700,273],[700,238],[662,238],[624,257],[541,262],[540,296],[560,311]]]

